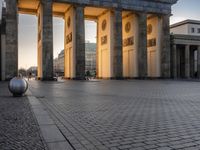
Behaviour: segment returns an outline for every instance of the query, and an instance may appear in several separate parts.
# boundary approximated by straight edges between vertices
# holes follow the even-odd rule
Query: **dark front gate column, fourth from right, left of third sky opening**
[[[85,79],[85,22],[84,22],[84,7],[75,6],[75,55],[76,68],[75,79]]]

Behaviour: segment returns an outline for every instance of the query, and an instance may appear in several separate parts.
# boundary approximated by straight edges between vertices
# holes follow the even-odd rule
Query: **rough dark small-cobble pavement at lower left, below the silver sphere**
[[[27,98],[13,98],[7,89],[0,82],[0,150],[46,149]]]

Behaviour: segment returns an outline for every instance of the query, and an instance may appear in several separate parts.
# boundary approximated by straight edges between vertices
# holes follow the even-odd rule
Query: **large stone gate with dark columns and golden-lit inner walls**
[[[52,17],[65,20],[65,78],[85,78],[84,20],[97,22],[99,78],[170,77],[171,6],[177,0],[5,0],[5,78],[17,75],[18,13],[38,17],[38,77],[53,78]]]

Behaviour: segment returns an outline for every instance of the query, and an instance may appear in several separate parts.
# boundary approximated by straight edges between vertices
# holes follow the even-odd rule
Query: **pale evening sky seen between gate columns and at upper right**
[[[0,0],[2,1],[2,0]],[[185,20],[200,20],[200,0],[178,0],[172,6],[170,24]],[[0,3],[1,7],[1,3]],[[0,12],[1,13],[1,12]],[[86,41],[96,42],[96,23],[86,21]],[[54,58],[64,49],[64,20],[53,19]],[[32,15],[19,15],[19,68],[28,69],[37,66],[37,17]]]

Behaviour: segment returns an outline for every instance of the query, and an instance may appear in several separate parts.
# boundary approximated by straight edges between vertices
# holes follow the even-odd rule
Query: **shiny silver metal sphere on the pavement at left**
[[[28,89],[28,83],[22,77],[14,77],[12,80],[10,80],[8,88],[13,96],[23,96]]]

